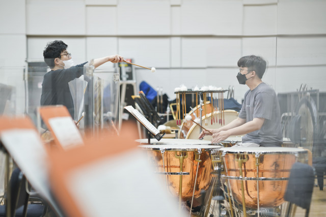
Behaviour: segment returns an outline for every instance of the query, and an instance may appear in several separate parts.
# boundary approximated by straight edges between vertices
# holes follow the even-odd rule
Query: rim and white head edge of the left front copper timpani
[[[191,144],[147,144],[138,145],[138,147],[146,150],[165,150],[165,151],[213,151],[220,150],[222,145],[203,144],[203,145],[191,145]]]

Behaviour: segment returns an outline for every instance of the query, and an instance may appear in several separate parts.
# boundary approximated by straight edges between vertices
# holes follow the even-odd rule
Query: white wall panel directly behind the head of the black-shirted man
[[[46,47],[48,42],[54,40],[62,40],[64,43],[68,45],[68,52],[71,53],[72,59],[75,64],[83,63],[84,61],[88,61],[86,59],[86,40],[85,38],[28,38],[28,60],[29,61],[43,61],[43,50]]]

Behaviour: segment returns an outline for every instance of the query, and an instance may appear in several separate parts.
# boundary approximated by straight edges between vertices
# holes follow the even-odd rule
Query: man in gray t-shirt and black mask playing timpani
[[[239,73],[236,76],[240,84],[250,89],[244,95],[244,101],[237,119],[219,129],[208,129],[212,134],[212,143],[226,140],[230,136],[243,135],[243,146],[281,146],[282,127],[280,106],[274,89],[262,82],[266,70],[266,61],[260,56],[243,56],[238,60]],[[204,130],[199,138],[211,135]]]

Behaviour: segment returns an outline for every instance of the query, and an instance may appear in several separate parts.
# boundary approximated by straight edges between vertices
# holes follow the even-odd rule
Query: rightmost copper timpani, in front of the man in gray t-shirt
[[[221,148],[226,178],[233,198],[246,207],[276,207],[284,202],[290,169],[295,162],[307,163],[301,148]]]

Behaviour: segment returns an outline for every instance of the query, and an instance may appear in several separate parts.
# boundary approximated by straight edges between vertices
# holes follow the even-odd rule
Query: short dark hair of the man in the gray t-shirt
[[[248,67],[249,71],[255,71],[262,78],[266,70],[266,61],[260,56],[242,56],[238,60],[238,67]]]

